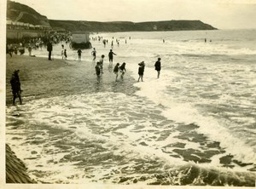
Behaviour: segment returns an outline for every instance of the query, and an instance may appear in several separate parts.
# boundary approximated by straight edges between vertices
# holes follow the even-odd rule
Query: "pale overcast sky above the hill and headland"
[[[218,29],[256,28],[256,0],[15,0],[50,20],[201,20]]]

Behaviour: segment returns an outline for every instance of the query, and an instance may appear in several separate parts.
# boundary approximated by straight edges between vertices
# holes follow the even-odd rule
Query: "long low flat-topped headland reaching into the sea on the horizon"
[[[216,30],[200,20],[169,20],[150,22],[96,22],[73,20],[49,20],[49,25],[55,29],[67,31],[189,31]]]

